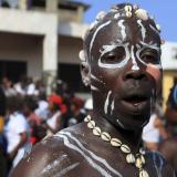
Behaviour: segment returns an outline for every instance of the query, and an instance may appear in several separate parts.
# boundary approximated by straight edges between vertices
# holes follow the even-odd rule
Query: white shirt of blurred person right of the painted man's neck
[[[152,114],[149,123],[143,128],[142,138],[144,142],[159,143],[159,131],[155,127],[156,117],[156,114]]]

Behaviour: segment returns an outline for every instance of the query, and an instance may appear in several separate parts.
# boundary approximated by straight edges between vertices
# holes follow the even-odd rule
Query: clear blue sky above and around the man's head
[[[84,21],[91,23],[95,20],[97,12],[108,11],[110,7],[121,2],[132,2],[146,9],[155,17],[156,23],[160,25],[162,38],[165,41],[177,42],[177,0],[77,0],[91,4],[86,11]]]

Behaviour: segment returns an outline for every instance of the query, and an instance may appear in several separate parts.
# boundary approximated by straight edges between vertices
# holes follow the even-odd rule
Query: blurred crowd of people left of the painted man
[[[0,86],[0,176],[17,166],[24,152],[45,136],[82,122],[92,110],[87,102],[73,93],[56,90],[45,95],[41,82],[22,77],[17,84],[3,77]],[[65,86],[64,86],[65,87]]]

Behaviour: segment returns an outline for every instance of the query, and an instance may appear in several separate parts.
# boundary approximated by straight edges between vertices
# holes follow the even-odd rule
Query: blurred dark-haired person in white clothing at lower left
[[[8,119],[4,125],[4,135],[8,140],[8,155],[14,168],[29,146],[30,128],[27,117],[22,114],[22,98],[11,96],[7,100]]]

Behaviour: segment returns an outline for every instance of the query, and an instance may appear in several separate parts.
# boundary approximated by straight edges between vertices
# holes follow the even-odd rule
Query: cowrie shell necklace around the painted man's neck
[[[84,118],[84,122],[87,123],[87,127],[93,131],[95,136],[98,136],[103,140],[110,143],[111,146],[119,148],[121,152],[126,155],[126,163],[135,165],[138,169],[139,177],[149,177],[148,173],[143,169],[143,166],[145,165],[145,157],[142,153],[136,155],[132,154],[131,148],[127,145],[123,144],[118,138],[112,138],[107,132],[103,132],[98,126],[96,126],[96,123],[90,115]]]

